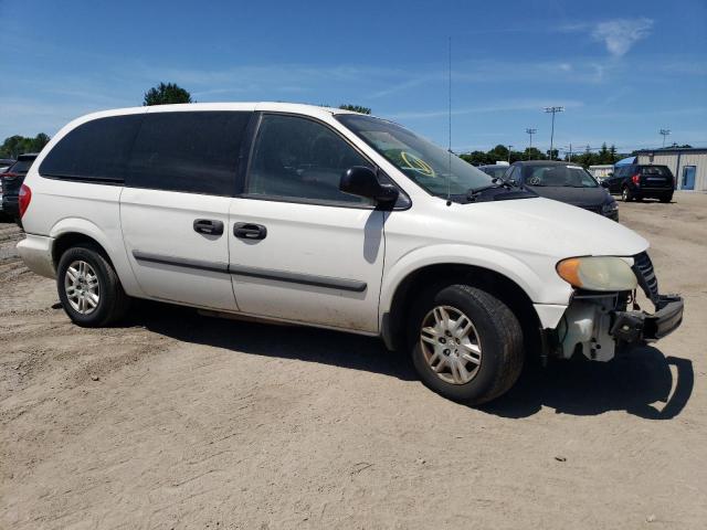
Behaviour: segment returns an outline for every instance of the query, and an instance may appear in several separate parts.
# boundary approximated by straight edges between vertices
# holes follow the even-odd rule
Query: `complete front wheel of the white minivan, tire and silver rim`
[[[523,331],[498,298],[468,285],[423,296],[410,322],[422,382],[454,401],[481,404],[505,393],[523,368]]]

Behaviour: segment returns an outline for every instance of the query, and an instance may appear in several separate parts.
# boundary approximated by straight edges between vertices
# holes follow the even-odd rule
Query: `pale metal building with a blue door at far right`
[[[678,190],[707,191],[707,148],[643,149],[636,158],[636,163],[671,168]]]

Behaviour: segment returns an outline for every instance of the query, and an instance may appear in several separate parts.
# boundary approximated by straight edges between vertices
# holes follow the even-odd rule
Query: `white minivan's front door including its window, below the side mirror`
[[[230,210],[230,271],[242,312],[378,332],[387,212],[339,191],[369,166],[326,124],[263,114]]]

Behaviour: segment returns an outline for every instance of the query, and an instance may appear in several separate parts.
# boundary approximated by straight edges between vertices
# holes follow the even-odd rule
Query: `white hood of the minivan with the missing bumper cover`
[[[603,189],[602,189],[603,191]],[[471,244],[504,248],[511,254],[573,256],[633,256],[648,242],[634,231],[602,215],[545,198],[489,201],[441,206],[441,230],[465,226],[461,239]],[[450,211],[453,208],[453,212]],[[457,216],[458,215],[458,216]]]

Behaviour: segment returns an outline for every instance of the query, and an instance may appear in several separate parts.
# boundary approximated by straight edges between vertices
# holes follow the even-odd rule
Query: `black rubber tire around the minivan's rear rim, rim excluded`
[[[98,303],[87,315],[81,314],[72,307],[64,288],[66,271],[76,261],[83,261],[91,265],[98,279]],[[88,243],[72,246],[62,254],[56,268],[56,289],[68,318],[85,328],[99,328],[116,322],[125,317],[130,306],[130,297],[123,290],[113,265],[97,245]]]

